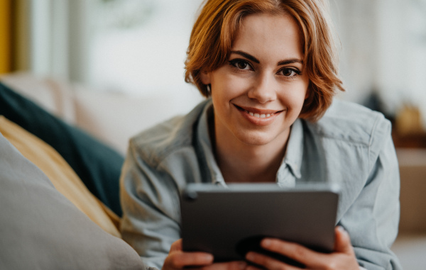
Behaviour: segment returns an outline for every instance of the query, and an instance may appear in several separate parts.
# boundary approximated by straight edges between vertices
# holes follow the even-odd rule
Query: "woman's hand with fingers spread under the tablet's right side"
[[[315,252],[300,244],[270,238],[263,239],[261,241],[261,247],[271,252],[283,254],[285,257],[294,259],[295,261],[299,261],[306,266],[306,269],[359,270],[359,264],[356,261],[349,234],[342,227],[337,227],[334,232],[336,235],[334,252],[330,254]],[[247,253],[246,259],[253,261],[255,264],[264,266],[266,269],[300,269],[255,252]],[[251,266],[248,266],[247,270],[251,270]]]

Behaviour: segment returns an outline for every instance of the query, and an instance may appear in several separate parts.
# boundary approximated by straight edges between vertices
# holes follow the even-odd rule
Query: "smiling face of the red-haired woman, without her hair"
[[[217,140],[286,142],[307,98],[301,36],[290,16],[246,16],[229,62],[202,73],[211,84]]]

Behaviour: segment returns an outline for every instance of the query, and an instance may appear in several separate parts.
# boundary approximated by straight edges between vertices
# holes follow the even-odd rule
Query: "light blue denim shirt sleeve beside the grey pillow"
[[[180,238],[178,188],[172,176],[146,164],[130,148],[121,172],[121,235],[147,266],[161,269]]]

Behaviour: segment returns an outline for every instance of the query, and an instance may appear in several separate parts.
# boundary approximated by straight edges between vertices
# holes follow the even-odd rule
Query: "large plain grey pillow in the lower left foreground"
[[[146,269],[0,133],[0,269]]]

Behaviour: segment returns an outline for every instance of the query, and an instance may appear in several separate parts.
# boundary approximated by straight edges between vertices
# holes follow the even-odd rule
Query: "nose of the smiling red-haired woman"
[[[267,74],[259,74],[253,81],[248,96],[250,99],[256,99],[259,103],[267,103],[277,98],[276,81]]]

